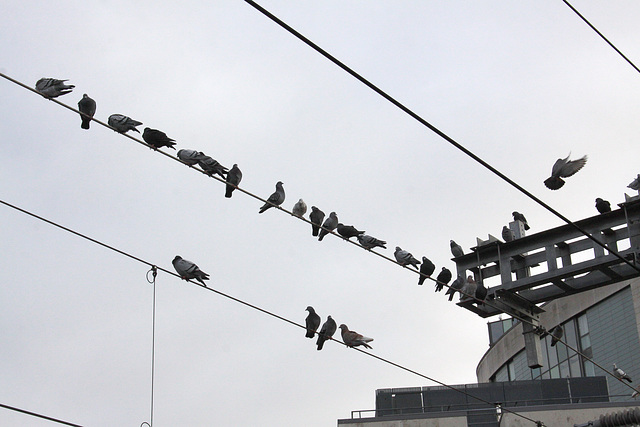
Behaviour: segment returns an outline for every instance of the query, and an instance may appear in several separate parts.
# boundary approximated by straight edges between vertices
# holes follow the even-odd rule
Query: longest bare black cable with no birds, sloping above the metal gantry
[[[443,131],[441,131],[440,129],[438,129],[437,127],[435,127],[434,125],[432,125],[431,123],[426,121],[425,119],[423,119],[421,116],[419,116],[413,110],[411,110],[409,107],[405,106],[400,101],[396,100],[394,97],[392,97],[391,95],[389,95],[388,93],[386,93],[385,91],[380,89],[378,86],[376,86],[373,83],[371,83],[369,80],[364,78],[361,74],[357,73],[352,68],[348,67],[342,61],[340,61],[339,59],[337,59],[336,57],[331,55],[329,52],[327,52],[326,50],[322,49],[320,46],[318,46],[317,44],[315,44],[314,42],[312,42],[311,40],[306,38],[304,35],[302,35],[298,31],[296,31],[294,28],[292,28],[287,23],[282,21],[280,18],[278,18],[277,16],[275,16],[274,14],[269,12],[267,9],[263,8],[262,6],[260,6],[256,2],[254,2],[253,0],[244,0],[244,1],[246,3],[248,3],[249,5],[253,6],[256,10],[261,12],[263,15],[265,15],[266,17],[271,19],[273,22],[275,22],[276,24],[280,25],[282,28],[287,30],[289,33],[291,33],[292,35],[294,35],[295,37],[297,37],[298,39],[303,41],[309,47],[311,47],[312,49],[314,49],[315,51],[320,53],[322,56],[324,56],[325,58],[329,59],[331,62],[336,64],[338,67],[342,68],[344,71],[346,71],[347,73],[351,74],[353,77],[355,77],[357,80],[359,80],[365,86],[367,86],[370,89],[372,89],[378,95],[382,96],[384,99],[386,99],[387,101],[389,101],[390,103],[392,103],[393,105],[398,107],[400,110],[402,110],[403,112],[405,112],[406,114],[408,114],[409,116],[411,116],[412,118],[417,120],[420,124],[422,124],[423,126],[426,126],[427,128],[429,128],[431,131],[433,131],[435,134],[437,134],[442,139],[447,141],[449,144],[453,145],[455,148],[457,148],[458,150],[462,151],[467,156],[471,157],[473,160],[475,160],[480,165],[484,166],[489,171],[493,172],[495,175],[500,177],[502,180],[504,180],[505,182],[510,184],[512,187],[516,188],[518,191],[523,193],[525,196],[529,197],[531,200],[533,200],[534,202],[538,203],[540,206],[542,206],[543,208],[545,208],[546,210],[548,210],[549,212],[551,212],[552,214],[554,214],[555,216],[557,216],[558,218],[560,218],[561,220],[566,222],[567,224],[569,224],[572,227],[574,227],[580,233],[584,234],[589,239],[594,241],[598,246],[601,246],[602,248],[606,249],[607,251],[609,251],[609,253],[613,254],[616,258],[618,258],[619,260],[621,260],[625,264],[628,264],[634,270],[640,272],[640,267],[638,267],[635,264],[629,262],[627,259],[625,259],[623,256],[621,256],[619,253],[617,253],[617,251],[614,251],[614,250],[610,249],[606,244],[602,243],[601,241],[599,241],[598,239],[593,237],[591,234],[589,234],[582,227],[578,226],[577,224],[572,222],[569,218],[565,217],[560,212],[558,212],[557,210],[555,210],[551,206],[549,206],[547,203],[543,202],[541,199],[539,199],[538,197],[534,196],[532,193],[530,193],[524,187],[522,187],[521,185],[519,185],[518,183],[513,181],[511,178],[509,178],[508,176],[506,176],[505,174],[500,172],[495,167],[491,166],[489,163],[487,163],[482,158],[480,158],[479,156],[477,156],[476,154],[471,152],[469,149],[464,147],[462,144],[460,144],[457,141],[455,141],[453,138],[451,138],[450,136],[445,134]]]

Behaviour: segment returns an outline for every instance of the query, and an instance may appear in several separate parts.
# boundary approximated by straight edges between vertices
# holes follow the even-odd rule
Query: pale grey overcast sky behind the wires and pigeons
[[[562,1],[354,0],[262,6],[572,220],[624,201],[636,174],[640,74]],[[640,62],[640,4],[572,4]],[[341,222],[452,270],[511,212],[561,220],[241,0],[14,1],[0,72],[69,79],[96,118],[160,129],[178,149],[243,171],[267,198]],[[433,283],[0,79],[0,200],[303,323],[374,338],[372,353],[446,384],[476,381],[487,319]],[[137,134],[136,134],[137,136]],[[165,150],[175,155],[173,150]],[[559,191],[556,159],[587,154]],[[150,421],[148,267],[0,205],[0,403],[91,426]],[[160,272],[154,426],[336,425],[375,390],[434,382]],[[488,320],[497,320],[497,317]],[[339,338],[339,334],[336,335]],[[48,421],[0,409],[3,425]]]

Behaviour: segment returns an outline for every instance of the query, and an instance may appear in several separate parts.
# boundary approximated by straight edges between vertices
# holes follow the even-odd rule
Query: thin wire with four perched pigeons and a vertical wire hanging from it
[[[42,216],[36,215],[36,214],[34,214],[34,213],[32,213],[32,212],[27,211],[26,209],[22,209],[22,208],[20,208],[20,207],[18,207],[18,206],[12,205],[11,203],[8,203],[8,202],[6,202],[6,201],[4,201],[4,200],[0,200],[0,203],[1,203],[1,204],[3,204],[3,205],[5,205],[5,206],[7,206],[7,207],[10,207],[10,208],[12,208],[12,209],[15,209],[15,210],[17,210],[17,211],[19,211],[19,212],[22,212],[22,213],[24,213],[24,214],[26,214],[26,215],[29,215],[29,216],[31,216],[31,217],[33,217],[33,218],[39,219],[39,220],[41,220],[41,221],[44,221],[44,222],[46,222],[47,224],[50,224],[50,225],[52,225],[52,226],[54,226],[54,227],[60,228],[60,229],[62,229],[62,230],[64,230],[64,231],[67,231],[67,232],[69,232],[69,233],[71,233],[71,234],[74,234],[74,235],[76,235],[76,236],[78,236],[78,237],[82,237],[83,239],[88,240],[88,241],[90,241],[90,242],[92,242],[92,243],[95,243],[95,244],[100,245],[100,246],[102,246],[102,247],[104,247],[104,248],[110,249],[110,250],[112,250],[112,251],[115,251],[115,252],[117,252],[117,253],[119,253],[119,254],[121,254],[121,255],[124,255],[124,256],[126,256],[126,257],[128,257],[128,258],[131,258],[131,259],[133,259],[133,260],[136,260],[136,261],[138,261],[138,262],[140,262],[140,263],[146,264],[147,266],[150,266],[150,267],[152,268],[152,270],[153,270],[153,269],[157,269],[157,270],[160,270],[160,271],[162,271],[162,272],[164,272],[164,273],[167,273],[167,274],[170,274],[170,275],[172,275],[172,276],[175,276],[175,277],[178,277],[178,278],[182,279],[182,277],[180,277],[180,275],[179,275],[179,274],[177,274],[177,273],[174,273],[174,272],[172,272],[172,271],[166,270],[166,269],[164,269],[164,268],[162,268],[162,267],[158,267],[157,265],[152,264],[152,263],[150,263],[149,261],[143,260],[142,258],[139,258],[139,257],[137,257],[137,256],[131,255],[131,254],[129,254],[129,253],[127,253],[127,252],[123,251],[123,250],[117,249],[117,248],[115,248],[115,247],[113,247],[113,246],[111,246],[111,245],[108,245],[108,244],[106,244],[106,243],[100,242],[99,240],[93,239],[93,238],[91,238],[91,237],[89,237],[89,236],[87,236],[87,235],[85,235],[85,234],[79,233],[79,232],[74,231],[74,230],[72,230],[72,229],[70,229],[70,228],[68,228],[68,227],[65,227],[65,226],[63,226],[63,225],[60,225],[60,224],[58,224],[58,223],[56,223],[56,222],[54,222],[54,221],[51,221],[51,220],[48,220],[48,219],[46,219],[46,218],[44,218],[44,217],[42,217]],[[236,297],[234,297],[234,296],[232,296],[232,295],[226,294],[226,293],[224,293],[224,292],[218,291],[218,290],[216,290],[216,289],[213,289],[213,288],[210,288],[210,287],[207,287],[207,286],[203,286],[203,285],[201,285],[201,284],[199,284],[199,283],[196,283],[196,282],[192,281],[191,279],[183,279],[183,280],[186,280],[187,282],[191,283],[192,285],[196,285],[196,286],[198,286],[198,287],[200,287],[200,288],[204,288],[204,289],[206,289],[206,290],[208,290],[208,291],[210,291],[210,292],[216,293],[216,294],[218,294],[218,295],[220,295],[220,296],[223,296],[223,297],[225,297],[225,298],[227,298],[227,299],[230,299],[230,300],[232,300],[232,301],[235,301],[235,302],[240,303],[240,304],[242,304],[242,305],[245,305],[245,306],[247,306],[247,307],[253,308],[254,310],[260,311],[260,312],[262,312],[262,313],[264,313],[264,314],[267,314],[267,315],[269,315],[269,316],[271,316],[271,317],[275,317],[276,319],[282,320],[282,321],[284,321],[284,322],[286,322],[286,323],[289,323],[289,324],[291,324],[291,325],[293,325],[293,326],[297,326],[297,327],[299,327],[299,328],[301,328],[301,329],[304,329],[304,330],[306,330],[306,329],[307,329],[305,325],[302,325],[302,324],[300,324],[300,323],[294,322],[293,320],[287,319],[286,317],[280,316],[280,315],[278,315],[278,314],[276,314],[276,313],[274,313],[274,312],[271,312],[271,311],[266,310],[266,309],[264,309],[264,308],[261,308],[261,307],[259,307],[259,306],[257,306],[257,305],[254,305],[254,304],[251,304],[251,303],[246,302],[246,301],[244,301],[244,300],[241,300],[241,299],[239,299],[239,298],[236,298]],[[154,302],[155,302],[155,293],[154,293]],[[315,334],[316,334],[316,335],[318,335],[319,333],[316,331],[316,332],[315,332]],[[336,342],[338,342],[338,343],[340,343],[340,344],[342,344],[342,345],[344,345],[344,346],[347,346],[347,344],[345,344],[344,342],[342,342],[342,341],[340,341],[340,340],[338,340],[338,339],[335,339],[335,338],[330,338],[330,339],[331,339],[332,341],[336,341]],[[347,347],[348,347],[348,346],[347,346]],[[409,372],[409,373],[412,373],[412,374],[417,375],[417,376],[419,376],[419,377],[425,378],[425,379],[427,379],[427,380],[429,380],[429,381],[433,381],[434,383],[437,383],[437,384],[439,384],[439,385],[441,385],[441,386],[447,387],[447,388],[449,388],[449,389],[451,389],[451,390],[455,390],[455,391],[457,391],[457,392],[459,392],[459,393],[465,394],[465,395],[467,395],[468,397],[471,397],[471,398],[477,399],[477,400],[479,400],[479,401],[481,401],[481,402],[483,402],[483,403],[486,403],[486,404],[489,404],[489,405],[494,405],[494,404],[495,404],[494,402],[489,402],[489,401],[484,400],[484,399],[482,399],[482,398],[480,398],[480,397],[477,397],[477,396],[474,396],[474,395],[472,395],[472,394],[470,394],[470,393],[467,393],[467,392],[466,392],[466,391],[464,391],[464,390],[457,389],[457,388],[455,388],[455,387],[453,387],[453,386],[450,386],[450,385],[448,385],[448,384],[445,384],[445,383],[443,383],[443,382],[441,382],[441,381],[438,381],[438,380],[436,380],[436,379],[434,379],[434,378],[431,378],[431,377],[429,377],[429,376],[427,376],[427,375],[421,374],[421,373],[420,373],[420,372],[418,372],[418,371],[414,371],[413,369],[410,369],[410,368],[407,368],[407,367],[405,367],[405,366],[403,366],[403,365],[400,365],[400,364],[398,364],[398,363],[392,362],[391,360],[389,360],[389,359],[385,359],[384,357],[377,356],[377,355],[375,355],[375,354],[373,354],[373,353],[369,353],[369,352],[363,351],[363,350],[361,350],[361,349],[359,349],[359,348],[356,348],[356,347],[352,347],[352,348],[353,348],[354,350],[356,350],[356,351],[359,351],[360,353],[366,354],[366,355],[368,355],[368,356],[370,356],[370,357],[373,357],[374,359],[377,359],[377,360],[379,360],[379,361],[381,361],[381,362],[387,363],[387,364],[389,364],[389,365],[391,365],[391,366],[395,366],[396,368],[402,369],[402,370],[404,370],[404,371],[406,371],[406,372]],[[529,418],[529,417],[527,417],[527,416],[525,416],[525,415],[522,415],[522,414],[520,414],[520,413],[518,413],[518,412],[511,411],[511,410],[509,410],[509,409],[507,409],[507,408],[502,408],[502,409],[503,409],[504,411],[506,411],[506,412],[510,412],[510,413],[512,413],[513,415],[516,415],[516,416],[522,417],[522,418],[524,418],[524,419],[526,419],[526,420],[528,420],[528,421],[531,421],[531,422],[533,422],[533,423],[536,423],[537,425],[540,425],[540,424],[539,424],[539,423],[540,423],[539,421],[536,421],[536,420],[534,420],[534,419],[532,419],[532,418]],[[153,416],[153,415],[152,415],[152,416]],[[71,425],[75,425],[75,424],[71,424]]]

